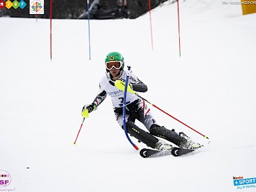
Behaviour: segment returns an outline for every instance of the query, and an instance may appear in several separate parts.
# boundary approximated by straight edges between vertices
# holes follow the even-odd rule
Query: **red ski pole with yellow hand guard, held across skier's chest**
[[[124,86],[125,86],[124,81],[121,81],[121,80],[115,81],[115,86],[116,86],[118,89],[124,91]],[[130,86],[127,86],[127,92],[130,92],[130,93],[133,93],[134,95],[137,95],[137,96],[140,97],[141,99],[143,99],[143,100],[145,100],[146,102],[148,102],[150,105],[154,106],[155,108],[159,109],[160,111],[162,111],[162,112],[165,113],[166,115],[168,115],[168,116],[172,117],[173,119],[177,120],[178,122],[180,122],[180,124],[185,125],[185,126],[188,127],[189,129],[192,129],[193,131],[197,132],[198,134],[204,136],[204,138],[207,138],[207,139],[209,140],[209,138],[208,138],[207,136],[205,136],[204,134],[202,134],[202,133],[196,131],[196,130],[193,129],[192,127],[189,127],[189,125],[184,124],[184,123],[181,122],[179,119],[175,118],[174,116],[170,115],[169,113],[166,113],[163,109],[158,108],[156,105],[152,104],[152,102],[149,102],[147,99],[144,99],[143,97],[141,97],[140,95],[138,95],[138,93],[134,92],[134,91],[131,89]]]

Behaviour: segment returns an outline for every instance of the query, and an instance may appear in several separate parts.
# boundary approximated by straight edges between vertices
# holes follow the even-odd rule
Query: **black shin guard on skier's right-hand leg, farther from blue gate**
[[[177,132],[170,131],[169,129],[166,129],[165,127],[160,127],[156,124],[150,127],[150,134],[159,138],[163,138],[164,140],[168,140],[179,147],[182,147],[185,143],[187,143],[187,140],[182,138],[182,136],[179,136]]]

